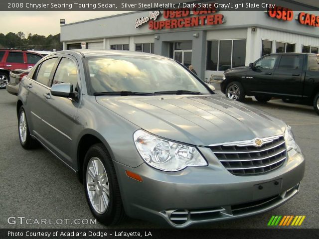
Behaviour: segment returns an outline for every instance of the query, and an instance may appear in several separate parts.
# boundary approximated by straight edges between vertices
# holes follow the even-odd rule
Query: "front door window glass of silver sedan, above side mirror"
[[[52,85],[59,83],[71,83],[73,89],[78,84],[78,71],[74,61],[69,58],[62,58],[53,78]]]

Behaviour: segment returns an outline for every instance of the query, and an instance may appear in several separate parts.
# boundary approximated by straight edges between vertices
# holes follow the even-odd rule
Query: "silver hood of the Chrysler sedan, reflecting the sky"
[[[219,95],[96,97],[98,104],[161,137],[198,146],[284,133],[286,124]]]

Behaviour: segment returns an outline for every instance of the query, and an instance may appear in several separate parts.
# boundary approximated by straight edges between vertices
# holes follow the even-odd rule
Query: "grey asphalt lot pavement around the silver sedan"
[[[106,228],[99,223],[90,224],[94,217],[87,205],[83,185],[70,169],[42,147],[24,150],[20,146],[16,100],[15,96],[0,90],[0,228]],[[300,193],[270,212],[195,228],[267,228],[272,215],[305,215],[306,219],[299,228],[318,228],[319,116],[311,106],[283,103],[281,100],[267,104],[252,100],[246,104],[292,126],[307,160]],[[128,219],[112,228],[163,227]]]

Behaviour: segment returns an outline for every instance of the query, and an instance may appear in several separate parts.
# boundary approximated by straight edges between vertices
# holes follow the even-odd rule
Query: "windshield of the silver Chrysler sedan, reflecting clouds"
[[[88,58],[87,65],[92,93],[188,91],[211,94],[192,74],[169,59],[104,56]]]

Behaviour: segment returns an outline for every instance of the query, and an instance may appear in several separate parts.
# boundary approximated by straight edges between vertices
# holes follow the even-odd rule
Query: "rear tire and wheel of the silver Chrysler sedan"
[[[38,145],[36,139],[32,138],[23,107],[20,107],[18,114],[18,132],[20,144],[25,149],[32,149]]]

